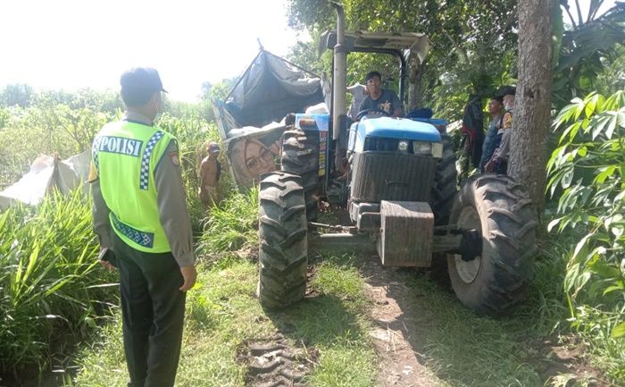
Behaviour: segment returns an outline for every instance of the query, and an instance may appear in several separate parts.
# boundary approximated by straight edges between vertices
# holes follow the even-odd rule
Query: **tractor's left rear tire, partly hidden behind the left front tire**
[[[282,140],[281,170],[302,177],[306,219],[317,220],[319,213],[317,186],[319,183],[319,132],[316,130],[286,130]]]

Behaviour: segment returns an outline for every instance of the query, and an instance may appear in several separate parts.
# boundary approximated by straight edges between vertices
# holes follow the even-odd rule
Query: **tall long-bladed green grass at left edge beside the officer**
[[[116,298],[96,270],[90,200],[54,193],[0,214],[0,373],[40,369],[64,333],[84,336]]]

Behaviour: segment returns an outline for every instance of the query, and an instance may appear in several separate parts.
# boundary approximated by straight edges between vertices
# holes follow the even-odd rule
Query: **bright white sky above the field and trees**
[[[116,90],[121,72],[151,66],[169,97],[193,101],[204,81],[244,72],[258,53],[257,38],[287,54],[297,35],[287,26],[286,2],[0,0],[0,88]],[[588,3],[580,0],[583,14]]]

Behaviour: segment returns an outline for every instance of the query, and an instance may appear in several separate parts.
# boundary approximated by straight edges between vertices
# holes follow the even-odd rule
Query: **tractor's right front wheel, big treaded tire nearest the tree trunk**
[[[458,299],[481,314],[504,315],[526,296],[537,251],[537,218],[521,184],[494,173],[462,186],[450,215],[458,229],[477,230],[481,254],[470,261],[448,255]]]

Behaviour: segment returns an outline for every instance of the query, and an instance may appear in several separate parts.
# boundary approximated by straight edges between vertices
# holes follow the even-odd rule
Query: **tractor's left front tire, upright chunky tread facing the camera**
[[[304,298],[307,223],[302,178],[286,172],[262,175],[258,298],[263,307],[287,307]]]

